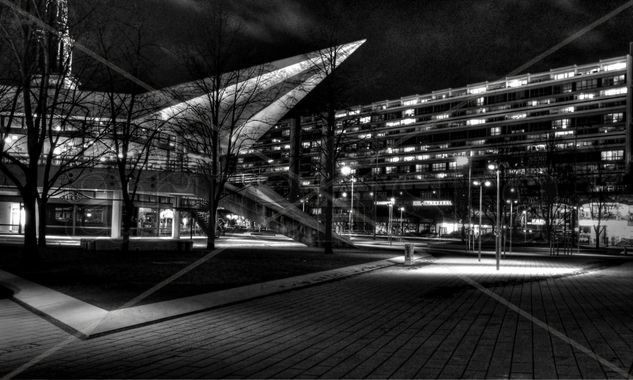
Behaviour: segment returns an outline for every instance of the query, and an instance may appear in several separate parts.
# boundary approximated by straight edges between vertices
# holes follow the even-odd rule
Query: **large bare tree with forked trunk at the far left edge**
[[[24,1],[0,7],[2,112],[0,171],[17,187],[25,209],[24,251],[39,257],[46,246],[50,197],[74,182],[94,160],[88,141],[90,92],[71,72],[68,10],[56,1]],[[36,215],[39,209],[39,243]]]

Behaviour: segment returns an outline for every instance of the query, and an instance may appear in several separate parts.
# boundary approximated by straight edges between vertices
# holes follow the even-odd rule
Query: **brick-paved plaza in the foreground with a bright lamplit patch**
[[[490,257],[481,263],[472,257],[427,257],[411,267],[395,265],[87,340],[4,299],[0,374],[623,378],[631,373],[632,261],[524,256],[501,264],[497,273]]]

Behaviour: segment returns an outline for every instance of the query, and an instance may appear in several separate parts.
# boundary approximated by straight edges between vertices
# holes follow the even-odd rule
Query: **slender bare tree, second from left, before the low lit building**
[[[152,69],[149,52],[155,46],[149,42],[151,26],[147,15],[140,14],[137,4],[112,8],[122,17],[100,19],[94,31],[94,43],[99,54],[113,66],[106,66],[100,77],[105,91],[96,100],[104,133],[101,146],[102,165],[114,170],[119,182],[123,238],[121,250],[127,252],[136,213],[136,199],[144,173],[150,169],[150,157],[159,156],[157,141],[169,133],[169,119],[157,111],[160,97],[146,94],[147,86],[123,78],[120,71],[137,80],[146,80]],[[134,21],[125,21],[134,15]],[[160,167],[152,168],[161,170]]]

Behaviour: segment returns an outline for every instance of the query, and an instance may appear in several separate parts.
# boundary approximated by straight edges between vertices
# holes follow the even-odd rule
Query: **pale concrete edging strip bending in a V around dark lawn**
[[[222,252],[217,249],[185,267],[207,261]],[[418,257],[420,257],[418,255]],[[267,281],[259,284],[203,293],[162,302],[136,306],[134,300],[117,310],[105,310],[74,297],[60,293],[32,281],[0,270],[0,285],[13,291],[13,301],[45,317],[62,329],[80,338],[112,333],[138,327],[157,321],[176,318],[186,314],[208,310],[214,307],[233,304],[270,294],[312,286],[322,282],[334,281],[403,262],[403,257],[379,260],[337,268],[328,271],[308,273],[299,276]],[[168,279],[169,280],[169,279]],[[158,284],[161,286],[161,284]],[[150,289],[151,291],[151,289]]]

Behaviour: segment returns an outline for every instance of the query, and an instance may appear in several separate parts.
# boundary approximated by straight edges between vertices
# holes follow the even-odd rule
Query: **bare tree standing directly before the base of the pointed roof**
[[[177,129],[194,170],[207,184],[208,217],[200,220],[206,230],[207,248],[215,247],[216,212],[229,178],[236,171],[237,154],[254,141],[263,126],[271,126],[259,112],[275,99],[278,83],[265,65],[236,68],[243,56],[239,49],[240,24],[218,4],[201,15],[203,27],[185,53],[186,67],[197,78],[174,88],[183,103]]]

